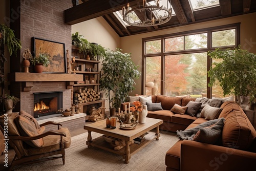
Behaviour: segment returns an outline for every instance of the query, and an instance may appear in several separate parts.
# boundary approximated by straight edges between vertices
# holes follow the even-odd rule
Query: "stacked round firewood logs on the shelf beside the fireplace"
[[[99,100],[99,92],[91,88],[85,88],[84,90],[79,90],[79,93],[76,93],[78,103],[90,102]]]

